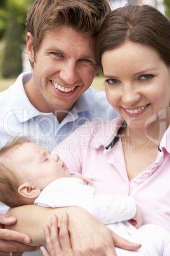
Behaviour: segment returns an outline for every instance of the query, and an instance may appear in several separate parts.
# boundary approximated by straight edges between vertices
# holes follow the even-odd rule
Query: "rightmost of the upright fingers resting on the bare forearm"
[[[67,213],[63,213],[62,218],[60,220],[60,243],[62,246],[63,255],[67,255],[67,253],[71,255],[72,246],[70,242],[69,236],[69,217]]]

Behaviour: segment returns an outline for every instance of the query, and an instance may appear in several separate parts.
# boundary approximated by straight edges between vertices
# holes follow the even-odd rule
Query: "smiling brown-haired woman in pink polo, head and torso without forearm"
[[[120,117],[82,125],[56,151],[97,193],[132,196],[143,224],[170,231],[170,22],[151,6],[118,8],[103,22],[96,55]]]

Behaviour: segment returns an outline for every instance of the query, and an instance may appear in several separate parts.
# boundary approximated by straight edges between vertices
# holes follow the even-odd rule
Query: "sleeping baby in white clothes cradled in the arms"
[[[22,204],[79,206],[115,233],[142,244],[134,252],[116,248],[117,255],[170,252],[169,232],[157,225],[141,226],[143,212],[132,197],[95,194],[92,185],[89,178],[70,174],[56,153],[27,138],[15,138],[0,150],[0,201],[4,204],[11,208]]]

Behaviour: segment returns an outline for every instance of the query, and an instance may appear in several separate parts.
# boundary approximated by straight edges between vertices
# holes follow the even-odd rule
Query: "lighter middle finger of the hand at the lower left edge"
[[[0,229],[0,239],[13,240],[20,243],[30,243],[31,239],[26,234],[22,234],[17,231],[11,231],[9,229]]]

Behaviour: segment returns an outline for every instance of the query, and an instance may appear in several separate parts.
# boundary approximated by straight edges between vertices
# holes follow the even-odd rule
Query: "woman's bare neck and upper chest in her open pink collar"
[[[128,125],[122,128],[120,136],[129,180],[155,162],[159,143],[168,126],[169,122],[153,122],[147,129],[138,131]]]

